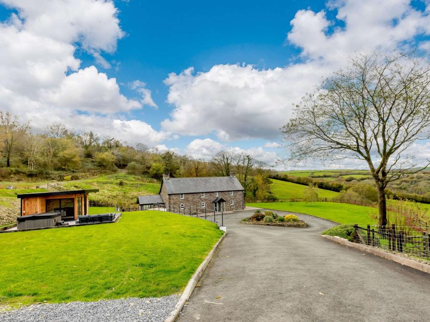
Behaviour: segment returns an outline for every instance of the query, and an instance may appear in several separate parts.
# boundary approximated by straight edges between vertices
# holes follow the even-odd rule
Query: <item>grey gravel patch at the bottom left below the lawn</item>
[[[174,309],[180,295],[162,298],[128,298],[96,302],[33,304],[13,311],[1,312],[3,322],[106,322],[164,321]]]

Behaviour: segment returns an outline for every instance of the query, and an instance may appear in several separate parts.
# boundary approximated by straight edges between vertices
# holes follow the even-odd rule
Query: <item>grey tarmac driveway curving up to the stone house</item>
[[[178,321],[429,321],[429,274],[324,239],[333,222],[240,223],[251,214],[225,215],[228,235]]]

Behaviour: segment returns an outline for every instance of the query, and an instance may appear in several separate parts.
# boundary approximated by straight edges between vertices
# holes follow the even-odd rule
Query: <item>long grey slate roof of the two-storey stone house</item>
[[[209,193],[244,190],[236,177],[201,177],[163,179],[168,194]]]

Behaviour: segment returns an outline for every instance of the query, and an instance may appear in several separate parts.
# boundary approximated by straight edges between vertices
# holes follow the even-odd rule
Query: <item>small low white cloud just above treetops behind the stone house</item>
[[[278,158],[278,155],[275,152],[266,151],[262,147],[245,150],[239,147],[229,147],[212,139],[193,140],[185,148],[185,153],[196,159],[210,160],[217,152],[221,150],[227,150],[232,153],[249,154],[254,159],[270,165],[274,165]]]

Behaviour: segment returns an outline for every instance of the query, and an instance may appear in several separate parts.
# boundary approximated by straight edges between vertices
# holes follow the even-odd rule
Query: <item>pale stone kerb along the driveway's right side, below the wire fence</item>
[[[353,243],[352,241],[349,241],[345,238],[341,238],[338,236],[329,236],[329,235],[321,235],[321,236],[326,238],[326,239],[330,239],[332,241],[338,242],[342,245],[345,245],[348,247],[353,247],[355,249],[359,249],[361,251],[364,251],[364,252],[367,252],[367,253],[382,257],[382,258],[386,258],[388,260],[395,261],[396,263],[399,263],[399,264],[402,264],[405,266],[409,266],[409,267],[415,268],[419,271],[430,274],[430,265],[420,263],[419,261],[412,260],[409,258],[404,258],[404,257],[396,255],[396,254],[391,254],[391,253],[388,253],[382,249],[373,248],[373,247],[366,246],[363,244]]]

